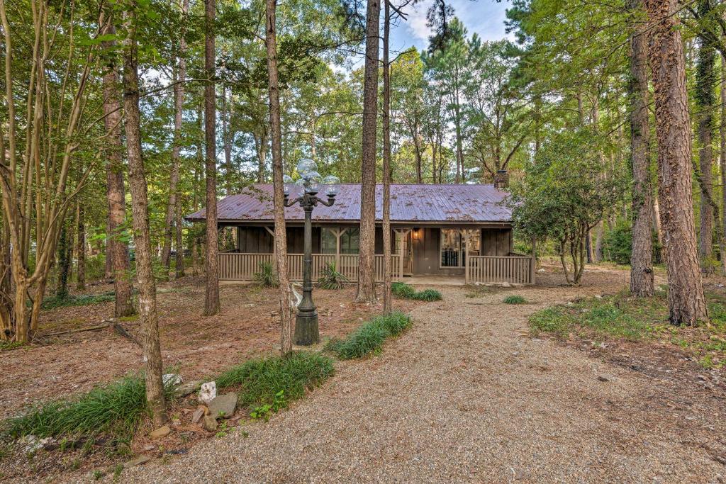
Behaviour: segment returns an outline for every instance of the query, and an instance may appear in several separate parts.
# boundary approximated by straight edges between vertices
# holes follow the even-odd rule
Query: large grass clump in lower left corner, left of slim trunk
[[[125,377],[95,387],[75,399],[52,401],[7,419],[3,431],[12,438],[25,435],[87,437],[101,434],[129,439],[146,408],[146,385],[141,377]]]

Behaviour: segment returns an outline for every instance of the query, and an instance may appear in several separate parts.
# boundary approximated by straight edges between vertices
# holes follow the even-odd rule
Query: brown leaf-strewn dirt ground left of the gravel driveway
[[[219,373],[251,356],[280,348],[277,292],[255,285],[222,285],[221,311],[201,316],[202,279],[184,278],[158,287],[159,331],[165,368],[185,380]],[[87,292],[113,290],[97,284]],[[340,337],[359,326],[380,307],[354,304],[355,288],[314,290],[323,340]],[[416,303],[396,300],[394,308],[409,311]],[[0,351],[0,419],[23,406],[91,389],[142,369],[142,350],[113,329],[46,336],[52,332],[99,325],[113,316],[113,303],[44,311],[35,343]],[[121,321],[130,335],[138,335],[138,321]],[[138,338],[137,338],[138,339]]]

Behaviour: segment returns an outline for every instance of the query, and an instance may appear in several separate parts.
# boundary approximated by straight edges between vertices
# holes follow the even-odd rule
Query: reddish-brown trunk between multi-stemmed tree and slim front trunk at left
[[[105,28],[105,34],[113,34],[112,22]],[[104,49],[110,50],[115,41],[104,42]],[[136,310],[131,301],[131,274],[129,247],[124,242],[122,231],[126,221],[126,196],[123,187],[123,144],[121,143],[121,102],[119,102],[118,73],[113,56],[109,57],[103,74],[103,123],[107,136],[105,158],[106,198],[108,202],[108,245],[106,257],[111,259],[113,292],[115,294],[114,316],[131,316]]]

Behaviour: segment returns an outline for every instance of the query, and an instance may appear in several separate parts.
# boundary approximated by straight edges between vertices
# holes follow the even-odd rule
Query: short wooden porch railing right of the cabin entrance
[[[533,284],[532,258],[522,255],[470,255],[465,278],[469,284],[477,282],[510,282]]]

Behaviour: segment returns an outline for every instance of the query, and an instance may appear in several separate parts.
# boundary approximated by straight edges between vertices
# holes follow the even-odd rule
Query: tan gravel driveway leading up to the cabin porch
[[[416,308],[415,326],[380,356],[339,364],[292,409],[248,425],[248,438],[209,440],[121,480],[722,482],[703,432],[722,438],[723,409],[703,430],[648,377],[526,335],[537,309],[603,290],[522,288],[508,293],[530,303],[505,305],[506,293],[443,287],[444,301]]]

